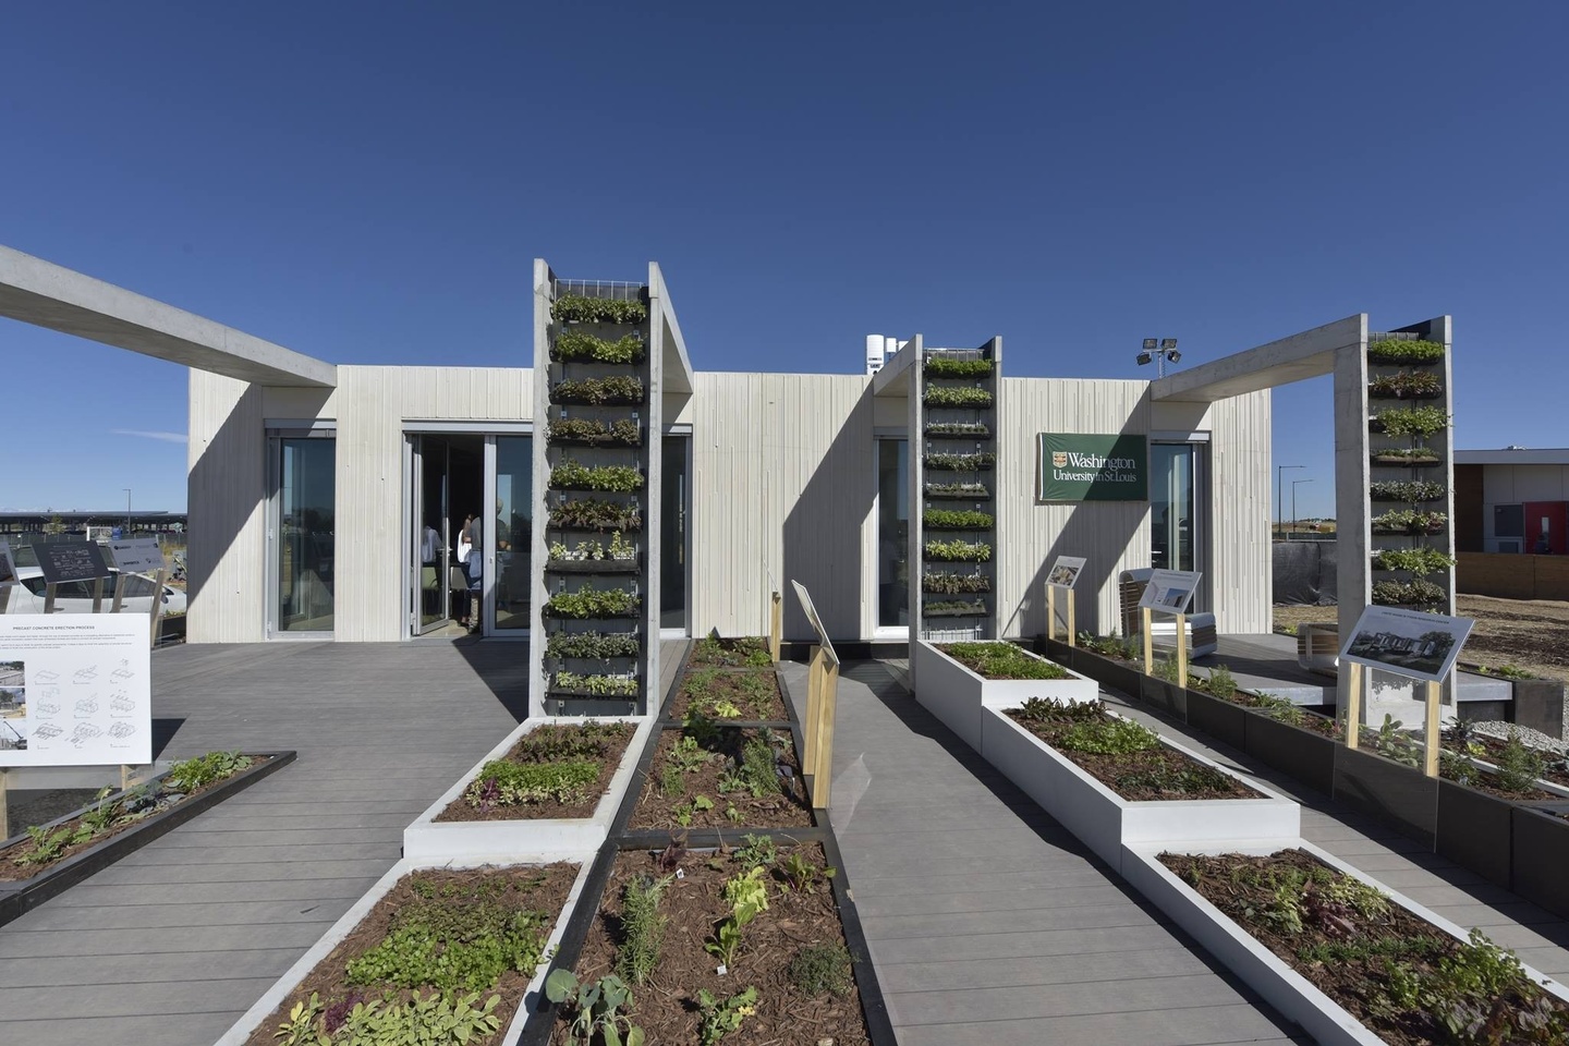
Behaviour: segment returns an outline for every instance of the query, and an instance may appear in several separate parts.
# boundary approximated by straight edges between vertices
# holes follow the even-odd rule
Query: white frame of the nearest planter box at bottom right
[[[1260,944],[1247,930],[1232,922],[1219,908],[1199,895],[1191,886],[1161,864],[1156,858],[1163,850],[1181,853],[1250,853],[1266,855],[1287,847],[1299,847],[1316,856],[1324,864],[1345,872],[1354,878],[1376,886],[1389,894],[1390,900],[1409,910],[1412,914],[1426,919],[1439,930],[1450,933],[1461,941],[1465,930],[1448,919],[1437,916],[1409,897],[1403,897],[1378,880],[1363,875],[1357,869],[1345,864],[1318,847],[1294,839],[1290,842],[1260,842],[1255,845],[1222,845],[1222,847],[1136,847],[1130,848],[1123,861],[1123,878],[1133,884],[1144,897],[1164,911],[1183,930],[1191,933],[1210,955],[1221,960],[1233,974],[1241,977],[1254,991],[1261,994],[1288,1019],[1296,1021],[1313,1037],[1320,1046],[1341,1046],[1357,1043],[1365,1046],[1381,1046],[1382,1038],[1370,1032],[1360,1021],[1343,1010],[1323,991],[1315,988],[1305,977],[1291,969],[1283,960]],[[1544,988],[1560,999],[1569,1001],[1569,993],[1561,985],[1549,982],[1542,974],[1530,966],[1525,972],[1531,980],[1544,983]]]

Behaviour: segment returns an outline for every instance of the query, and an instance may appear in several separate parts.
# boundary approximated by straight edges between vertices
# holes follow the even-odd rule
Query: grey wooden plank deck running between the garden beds
[[[661,692],[679,646],[665,648]],[[513,728],[526,652],[468,640],[160,651],[165,756],[297,748],[300,761],[0,928],[0,1041],[212,1043]],[[803,693],[805,666],[786,674]],[[1569,974],[1563,921],[1301,798],[1313,842]],[[846,666],[833,819],[905,1046],[1305,1041],[921,709],[897,665]]]

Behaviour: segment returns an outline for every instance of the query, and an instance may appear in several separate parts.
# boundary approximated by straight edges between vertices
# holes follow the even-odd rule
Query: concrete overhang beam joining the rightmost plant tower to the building
[[[1367,314],[1302,331],[1150,383],[1152,400],[1214,403],[1227,397],[1318,378],[1335,370],[1335,353],[1362,345]]]

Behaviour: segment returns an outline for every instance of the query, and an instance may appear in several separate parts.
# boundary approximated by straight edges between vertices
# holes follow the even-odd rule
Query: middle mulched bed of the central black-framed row
[[[800,757],[786,731],[690,721],[661,732],[632,830],[811,825]]]

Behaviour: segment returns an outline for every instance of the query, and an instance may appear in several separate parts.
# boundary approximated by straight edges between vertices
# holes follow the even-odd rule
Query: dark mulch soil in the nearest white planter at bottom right
[[[1272,883],[1272,870],[1323,869],[1324,866],[1304,850],[1280,850],[1269,856],[1244,856],[1227,853],[1221,856],[1192,856],[1163,853],[1161,863],[1178,878],[1192,886],[1205,900],[1219,908],[1229,919],[1247,930],[1265,947],[1288,966],[1312,982],[1320,991],[1345,1007],[1354,1018],[1371,1027],[1395,1046],[1425,1046],[1450,1041],[1426,1013],[1396,1010],[1385,993],[1389,974],[1385,958],[1379,955],[1348,955],[1346,946],[1373,944],[1374,941],[1428,938],[1417,942],[1400,957],[1400,961],[1418,972],[1431,972],[1440,958],[1456,955],[1459,942],[1442,930],[1418,919],[1404,908],[1390,903],[1382,914],[1360,914],[1335,902],[1318,886],[1301,892],[1302,928],[1290,932],[1266,913],[1277,911],[1279,884]],[[1334,878],[1345,878],[1338,872]],[[1315,946],[1338,946],[1340,952],[1331,961],[1315,961],[1301,953]],[[1389,947],[1385,944],[1385,947]],[[1495,1001],[1494,1016],[1509,1021],[1527,1007],[1517,994]],[[1569,1021],[1569,1007],[1552,1001],[1552,1007]],[[1506,1037],[1503,1043],[1564,1043],[1564,1037],[1525,1038]],[[1483,1040],[1476,1040],[1483,1041]]]

